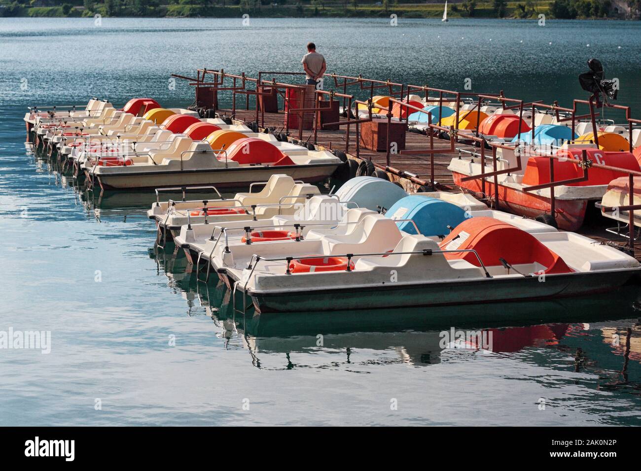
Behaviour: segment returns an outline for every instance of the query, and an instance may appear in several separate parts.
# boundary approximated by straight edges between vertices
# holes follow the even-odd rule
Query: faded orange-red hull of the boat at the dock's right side
[[[465,188],[475,193],[482,193],[480,179],[462,181],[467,175],[452,172],[454,185]],[[547,197],[529,194],[515,190],[508,186],[499,186],[499,210],[508,210],[511,213],[527,217],[537,217],[542,214],[550,214],[552,211],[551,200]],[[485,181],[485,194],[494,195],[494,183]],[[556,224],[559,229],[565,231],[576,231],[583,225],[585,211],[588,208],[587,199],[555,199],[554,209],[556,212]],[[503,207],[501,207],[503,206]]]

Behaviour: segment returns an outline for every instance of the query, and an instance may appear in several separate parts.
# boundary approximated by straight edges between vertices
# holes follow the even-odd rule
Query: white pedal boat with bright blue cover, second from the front
[[[336,203],[335,203],[336,204]],[[368,250],[391,252],[395,244],[404,235],[420,234],[433,240],[444,240],[454,227],[463,221],[475,217],[495,217],[504,222],[523,227],[531,233],[556,231],[551,226],[529,219],[504,213],[502,211],[482,210],[469,211],[455,204],[433,197],[410,195],[397,201],[385,215],[365,208],[350,208],[345,206],[344,217],[335,224],[324,221],[301,222],[300,220],[279,220],[278,224],[265,224],[265,222],[236,222],[233,225],[225,224],[212,231],[206,245],[198,247],[200,258],[208,262],[219,278],[231,288],[238,281],[238,272],[233,269],[246,266],[251,257],[273,257],[290,250],[296,253],[308,251],[307,254],[329,253],[345,249],[351,251],[349,244],[361,244],[369,240]],[[183,228],[184,229],[184,228]],[[265,231],[274,231],[280,238],[265,239]],[[181,233],[176,242],[188,238],[189,231]],[[272,236],[275,235],[272,233]],[[324,237],[329,239],[326,239]],[[327,242],[320,252],[319,240]],[[248,243],[249,241],[249,243]],[[325,244],[323,242],[323,244]],[[335,246],[332,244],[348,244]],[[293,245],[292,245],[293,244]],[[254,245],[250,249],[248,245]],[[190,245],[190,248],[194,245]],[[358,247],[362,249],[362,247]],[[287,255],[285,255],[287,256]],[[209,269],[208,269],[209,270]],[[312,271],[320,268],[312,268]]]

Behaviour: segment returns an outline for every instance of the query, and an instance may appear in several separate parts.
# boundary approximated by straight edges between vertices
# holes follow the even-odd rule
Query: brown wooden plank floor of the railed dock
[[[231,115],[231,110],[218,110],[221,115]],[[278,131],[285,126],[285,113],[265,113],[265,127],[274,127]],[[254,121],[256,119],[255,110],[236,110],[235,118],[239,121]],[[341,118],[341,121],[344,121],[344,118]],[[260,124],[260,113],[259,113],[259,124]],[[341,126],[338,131],[327,131],[325,129],[319,129],[317,131],[317,145],[320,147],[325,147],[326,149],[340,149],[344,151],[349,158],[356,159],[356,139],[355,139],[355,127],[350,126],[350,140],[349,140],[349,149],[345,149],[345,131],[347,127]],[[290,130],[292,138],[297,138],[298,130]],[[303,131],[303,140],[308,142],[313,142],[313,129],[308,131]],[[443,149],[443,153],[434,154],[434,179],[437,184],[438,190],[451,190],[456,191],[454,186],[452,173],[447,170],[447,165],[449,165],[450,160],[458,154],[457,152],[451,153],[450,142],[444,139],[434,139],[434,146],[436,149]],[[411,151],[412,149],[426,149],[429,147],[429,138],[416,133],[406,133],[406,150]],[[462,144],[456,144],[456,149],[472,149],[472,147]],[[360,158],[369,159],[374,163],[380,165],[386,165],[386,154],[385,152],[376,152],[370,149],[364,149],[360,147]],[[404,172],[411,172],[415,174],[417,178],[428,180],[430,175],[430,158],[427,154],[392,154],[390,155],[390,167],[394,169],[402,170]],[[403,180],[403,178],[400,178]],[[407,186],[413,186],[411,182],[406,181],[402,183],[407,183]],[[406,185],[403,185],[406,186]],[[415,185],[414,185],[415,186]],[[500,208],[499,208],[500,209]],[[628,244],[627,238],[623,236],[617,236],[612,233],[606,232],[607,227],[616,226],[617,223],[612,219],[606,219],[596,214],[592,218],[586,221],[583,227],[578,231],[579,234],[588,236],[597,242],[601,243],[610,243],[617,245],[626,245]],[[637,242],[635,242],[635,256],[637,260],[641,261],[641,237]]]

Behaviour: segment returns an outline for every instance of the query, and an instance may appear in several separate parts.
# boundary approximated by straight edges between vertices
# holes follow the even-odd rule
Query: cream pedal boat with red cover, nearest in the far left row
[[[116,158],[116,165],[99,157],[81,166],[103,190],[187,185],[240,188],[276,173],[313,183],[328,178],[342,164],[328,151],[310,151],[289,142],[261,138],[243,138],[228,149],[212,149],[206,141],[184,136],[177,137],[169,149],[106,157]]]

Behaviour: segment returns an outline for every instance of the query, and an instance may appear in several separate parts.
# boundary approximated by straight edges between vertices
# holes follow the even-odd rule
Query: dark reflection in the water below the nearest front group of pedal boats
[[[158,274],[165,274],[174,292],[187,300],[188,314],[212,317],[218,335],[230,348],[247,349],[256,367],[331,367],[353,361],[356,350],[369,351],[368,364],[376,363],[372,357],[378,355],[381,364],[417,367],[487,354],[597,374],[599,388],[641,390],[636,286],[533,302],[244,316],[235,313],[226,286],[197,281],[184,257],[149,252]],[[570,361],[551,361],[545,354],[549,349]]]

